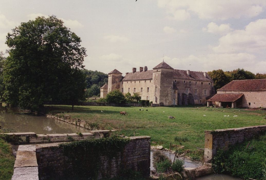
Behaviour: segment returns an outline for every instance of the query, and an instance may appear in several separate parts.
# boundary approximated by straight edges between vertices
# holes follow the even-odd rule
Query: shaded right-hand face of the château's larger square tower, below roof
[[[153,71],[155,70],[157,71],[157,69],[154,69]],[[162,68],[160,76],[159,103],[162,103],[165,106],[173,105],[173,69]]]

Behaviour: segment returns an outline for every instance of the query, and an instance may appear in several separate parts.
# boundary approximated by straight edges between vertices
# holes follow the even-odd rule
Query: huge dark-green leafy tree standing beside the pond
[[[38,110],[45,100],[75,102],[84,95],[81,39],[55,16],[21,23],[8,33],[3,96],[20,108]]]

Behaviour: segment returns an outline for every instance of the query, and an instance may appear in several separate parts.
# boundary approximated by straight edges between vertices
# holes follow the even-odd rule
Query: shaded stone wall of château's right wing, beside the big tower
[[[213,82],[195,81],[195,80],[187,80],[187,79],[186,80],[185,79],[174,79],[174,81],[175,80],[177,83],[178,93],[180,93],[181,102],[183,100],[182,93],[186,93],[186,88],[188,88],[188,92],[186,93],[187,99],[189,99],[189,95],[191,95],[194,99],[194,104],[206,104],[207,103],[206,97],[211,95],[211,89],[213,87]],[[197,89],[197,94],[195,94],[195,89]],[[206,95],[204,94],[204,89],[206,89]]]

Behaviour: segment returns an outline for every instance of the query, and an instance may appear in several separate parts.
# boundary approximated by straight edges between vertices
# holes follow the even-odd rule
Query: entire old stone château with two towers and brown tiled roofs
[[[206,104],[206,97],[213,92],[213,80],[206,72],[174,69],[163,61],[152,70],[147,66],[140,67],[139,71],[132,68],[125,77],[114,69],[108,73],[107,92],[114,89],[131,95],[140,92],[142,100],[159,105]],[[103,91],[106,86],[101,88]]]

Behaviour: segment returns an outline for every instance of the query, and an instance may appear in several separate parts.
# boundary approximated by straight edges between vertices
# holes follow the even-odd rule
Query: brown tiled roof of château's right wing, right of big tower
[[[198,71],[190,71],[188,75],[186,73],[186,70],[179,70],[179,69],[174,69],[173,78],[213,82],[213,80],[210,78],[210,76],[207,73],[206,73],[206,77],[203,75],[203,72],[198,72]]]

